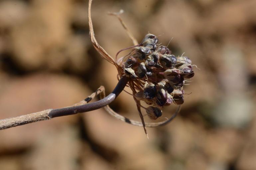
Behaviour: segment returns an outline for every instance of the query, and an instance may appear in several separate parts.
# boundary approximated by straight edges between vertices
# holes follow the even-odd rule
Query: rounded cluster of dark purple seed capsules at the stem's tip
[[[134,80],[139,90],[135,97],[152,105],[146,108],[151,119],[160,117],[164,106],[183,104],[185,79],[194,76],[188,57],[176,57],[170,49],[157,42],[155,35],[147,34],[122,59],[124,74]]]

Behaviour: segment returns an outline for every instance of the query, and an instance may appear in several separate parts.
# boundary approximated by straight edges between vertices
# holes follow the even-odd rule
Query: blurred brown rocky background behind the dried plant
[[[72,105],[100,85],[113,90],[117,71],[89,41],[87,4],[0,1],[0,119]],[[120,9],[139,42],[148,32],[163,45],[173,37],[172,53],[200,69],[178,117],[147,128],[149,140],[104,109],[3,130],[0,169],[255,170],[256,1],[94,0],[95,36],[111,56],[132,45],[107,15]],[[140,120],[125,92],[111,107]]]

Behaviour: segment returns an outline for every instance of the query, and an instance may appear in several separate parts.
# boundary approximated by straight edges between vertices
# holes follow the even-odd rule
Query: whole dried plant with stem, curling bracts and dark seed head
[[[119,82],[115,89],[108,96],[105,96],[105,89],[103,86],[100,86],[96,92],[73,106],[60,109],[48,109],[15,118],[0,120],[0,129],[7,129],[36,121],[87,112],[104,107],[110,115],[121,121],[136,126],[143,126],[145,134],[147,135],[146,127],[163,126],[171,122],[178,114],[180,105],[184,102],[183,85],[185,79],[190,79],[194,76],[191,60],[185,56],[176,57],[171,54],[170,49],[158,43],[158,38],[154,34],[148,33],[141,43],[138,43],[119,16],[122,11],[119,13],[109,13],[109,15],[114,15],[119,19],[134,45],[118,51],[115,59],[112,58],[95,39],[91,20],[91,3],[92,0],[89,0],[88,22],[90,40],[102,58],[115,65],[117,68]],[[118,54],[128,49],[131,51],[126,56],[118,59]],[[108,104],[124,90],[125,86],[130,87],[132,90],[132,94],[128,93],[133,96],[136,102],[141,122],[125,118],[114,112],[108,106]],[[96,95],[100,95],[101,100],[87,103]],[[146,108],[142,106],[141,101],[145,102],[149,107]],[[162,116],[163,107],[169,106],[172,103],[179,105],[179,107],[171,118],[157,123],[144,122],[141,108],[146,110],[150,119],[156,120]]]

